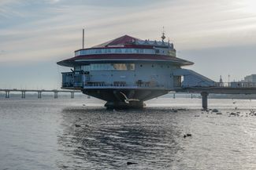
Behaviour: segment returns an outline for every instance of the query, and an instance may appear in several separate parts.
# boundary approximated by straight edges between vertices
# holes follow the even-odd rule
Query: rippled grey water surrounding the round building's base
[[[209,102],[222,114],[202,113],[200,99],[128,111],[95,99],[0,99],[0,169],[256,169],[256,100]]]

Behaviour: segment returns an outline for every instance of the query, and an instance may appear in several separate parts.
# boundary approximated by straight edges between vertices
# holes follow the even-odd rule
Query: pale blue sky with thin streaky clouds
[[[256,74],[254,0],[0,0],[0,89],[60,89],[56,63],[124,34],[160,40],[214,81]]]

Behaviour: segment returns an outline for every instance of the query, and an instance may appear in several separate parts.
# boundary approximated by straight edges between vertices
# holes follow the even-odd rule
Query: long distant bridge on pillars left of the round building
[[[58,92],[68,92],[70,93],[71,99],[75,97],[75,92],[81,92],[77,90],[57,90],[57,89],[52,89],[52,90],[45,90],[45,89],[0,89],[0,92],[6,92],[6,98],[9,98],[10,92],[21,92],[21,98],[24,99],[26,98],[26,92],[37,92],[38,93],[38,98],[42,98],[42,93],[43,92],[53,92],[54,93],[54,99],[58,98]]]

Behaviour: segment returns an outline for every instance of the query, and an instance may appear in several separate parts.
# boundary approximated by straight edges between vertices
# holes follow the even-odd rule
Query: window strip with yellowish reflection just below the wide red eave
[[[81,66],[83,71],[135,71],[135,63],[91,63]]]

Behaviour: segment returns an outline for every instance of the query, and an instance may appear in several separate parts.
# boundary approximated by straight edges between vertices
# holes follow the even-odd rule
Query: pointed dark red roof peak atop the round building
[[[140,39],[131,37],[129,35],[124,35],[120,38],[110,40],[109,42],[104,42],[100,45],[95,45],[92,48],[100,48],[100,47],[115,46],[115,45],[126,45],[126,44],[131,44],[135,40],[140,40]]]

